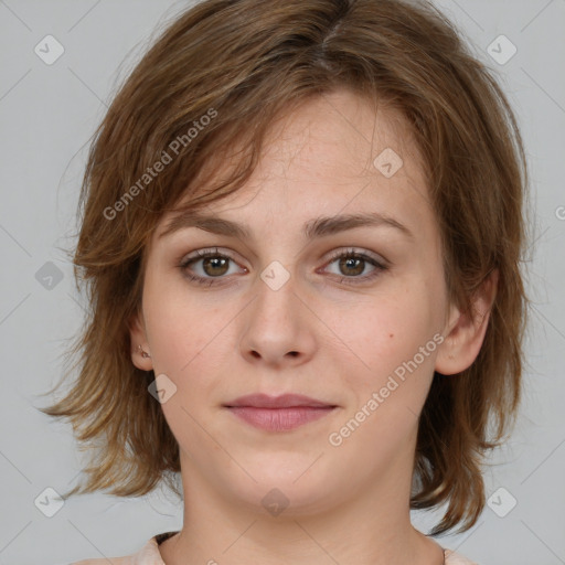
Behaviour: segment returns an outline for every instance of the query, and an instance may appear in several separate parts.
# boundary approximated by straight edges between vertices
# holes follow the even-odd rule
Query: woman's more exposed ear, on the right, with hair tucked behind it
[[[471,312],[461,313],[451,305],[449,322],[444,332],[436,358],[435,370],[444,375],[452,375],[468,369],[477,359],[487,333],[489,318],[499,281],[494,269],[482,282],[471,301]]]

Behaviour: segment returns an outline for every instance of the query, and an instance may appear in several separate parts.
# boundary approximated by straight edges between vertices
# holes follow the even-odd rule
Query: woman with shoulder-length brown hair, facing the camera
[[[525,185],[504,95],[430,7],[173,22],[89,154],[92,317],[45,409],[100,448],[84,492],[180,473],[182,530],[113,562],[472,563],[409,510],[446,503],[437,535],[483,509],[520,401]]]

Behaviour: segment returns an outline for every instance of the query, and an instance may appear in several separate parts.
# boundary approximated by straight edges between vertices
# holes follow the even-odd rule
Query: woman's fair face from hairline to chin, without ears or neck
[[[131,331],[151,354],[136,365],[166,375],[185,490],[257,508],[276,488],[306,512],[409,481],[456,320],[399,116],[348,92],[312,99],[276,124],[246,185],[199,214],[216,222],[161,235],[175,214],[162,217]],[[311,401],[236,402],[255,394]]]

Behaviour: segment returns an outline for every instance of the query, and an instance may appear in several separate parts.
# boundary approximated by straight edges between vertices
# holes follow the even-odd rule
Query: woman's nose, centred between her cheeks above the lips
[[[294,276],[280,288],[257,277],[254,287],[254,299],[241,319],[242,355],[249,363],[276,369],[308,362],[317,349],[320,322],[307,306],[307,294],[300,292]]]

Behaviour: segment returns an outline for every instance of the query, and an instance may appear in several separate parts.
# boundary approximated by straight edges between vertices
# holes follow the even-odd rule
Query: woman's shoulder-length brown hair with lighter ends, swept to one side
[[[521,398],[525,157],[508,99],[459,32],[434,7],[399,0],[205,0],[162,33],[120,87],[81,192],[73,263],[89,312],[70,351],[79,372],[43,408],[70,418],[82,449],[98,447],[83,492],[142,495],[164,479],[179,493],[179,446],[148,394],[154,374],[130,356],[149,238],[181,198],[194,209],[242,186],[275,117],[335,88],[390,104],[409,125],[454,303],[469,311],[473,292],[499,271],[478,358],[457,375],[434,375],[411,497],[413,509],[448,502],[431,535],[476,523],[483,456],[514,424]],[[230,178],[191,182],[231,151]],[[167,166],[157,174],[158,161]]]

